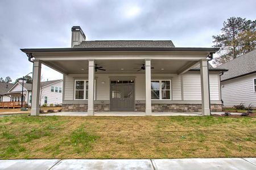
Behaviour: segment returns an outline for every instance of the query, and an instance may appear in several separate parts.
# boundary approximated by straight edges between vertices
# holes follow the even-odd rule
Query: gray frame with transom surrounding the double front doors
[[[109,111],[111,112],[112,111],[112,108],[111,108],[111,97],[112,97],[112,94],[111,94],[111,81],[117,81],[117,80],[133,80],[133,91],[134,91],[134,101],[133,101],[133,111],[130,111],[130,112],[135,112],[135,76],[110,76],[109,77]],[[115,112],[115,111],[113,111]],[[117,112],[129,112],[129,111],[117,111]]]

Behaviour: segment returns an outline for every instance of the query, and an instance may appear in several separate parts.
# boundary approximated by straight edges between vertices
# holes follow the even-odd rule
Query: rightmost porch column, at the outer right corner
[[[207,59],[200,61],[201,73],[201,97],[202,97],[202,114],[203,116],[210,115],[210,101],[209,101],[209,79],[208,79],[208,63]]]

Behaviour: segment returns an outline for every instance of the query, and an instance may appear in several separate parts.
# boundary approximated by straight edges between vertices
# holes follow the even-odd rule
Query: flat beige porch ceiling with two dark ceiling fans
[[[88,72],[88,61],[44,61],[44,65],[52,67],[64,74],[77,74]],[[144,63],[144,60],[96,60],[98,66],[102,66],[106,71],[97,73],[144,73],[144,70],[137,71]],[[179,73],[179,70],[192,65],[195,61],[186,60],[152,60],[151,66],[154,69],[151,73]],[[136,69],[137,68],[137,69]]]

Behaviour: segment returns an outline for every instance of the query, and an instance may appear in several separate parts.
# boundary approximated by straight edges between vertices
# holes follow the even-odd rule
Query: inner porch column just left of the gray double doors
[[[94,59],[89,59],[88,69],[88,116],[94,116]]]

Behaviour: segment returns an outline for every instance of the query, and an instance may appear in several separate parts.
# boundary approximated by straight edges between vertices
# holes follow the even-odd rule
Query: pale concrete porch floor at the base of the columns
[[[212,112],[222,114],[224,112]],[[241,113],[232,113],[241,114]],[[56,112],[40,114],[40,116],[88,116],[87,112]],[[146,116],[145,112],[95,112],[94,116]],[[201,112],[152,112],[151,116],[202,116]]]

